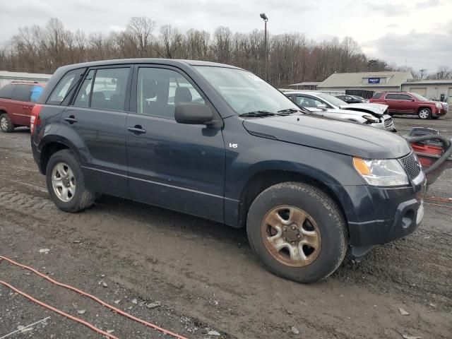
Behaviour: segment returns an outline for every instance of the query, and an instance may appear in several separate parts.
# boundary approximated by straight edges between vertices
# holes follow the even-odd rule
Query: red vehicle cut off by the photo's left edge
[[[0,129],[12,132],[30,126],[31,109],[44,91],[44,83],[13,82],[0,88]]]

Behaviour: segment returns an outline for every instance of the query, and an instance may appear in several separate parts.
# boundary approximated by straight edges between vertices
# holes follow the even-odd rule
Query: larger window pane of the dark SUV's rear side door
[[[129,67],[97,69],[91,93],[90,107],[124,110],[129,72]]]

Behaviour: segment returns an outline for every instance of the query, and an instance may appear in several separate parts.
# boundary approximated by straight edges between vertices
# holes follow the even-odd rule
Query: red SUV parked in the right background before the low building
[[[447,109],[442,102],[431,101],[417,93],[381,92],[371,97],[370,102],[388,105],[389,114],[417,114],[420,119],[439,118]]]

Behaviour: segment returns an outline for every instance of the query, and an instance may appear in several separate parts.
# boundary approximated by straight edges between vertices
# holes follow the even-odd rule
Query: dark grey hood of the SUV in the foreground
[[[245,129],[287,143],[296,143],[364,158],[388,159],[410,153],[408,143],[394,133],[371,126],[311,114],[246,119]]]

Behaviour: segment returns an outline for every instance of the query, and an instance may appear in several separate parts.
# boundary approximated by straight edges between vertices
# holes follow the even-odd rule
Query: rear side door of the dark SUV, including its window
[[[125,97],[130,81],[130,66],[91,69],[73,106],[61,114],[61,123],[80,138],[88,188],[123,197],[129,197]]]

